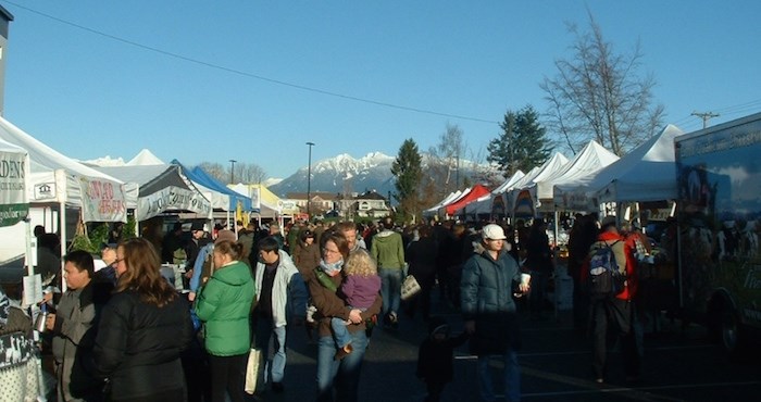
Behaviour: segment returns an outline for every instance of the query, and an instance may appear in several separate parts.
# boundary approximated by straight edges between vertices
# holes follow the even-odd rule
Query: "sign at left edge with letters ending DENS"
[[[0,226],[15,225],[29,212],[26,154],[0,152]]]

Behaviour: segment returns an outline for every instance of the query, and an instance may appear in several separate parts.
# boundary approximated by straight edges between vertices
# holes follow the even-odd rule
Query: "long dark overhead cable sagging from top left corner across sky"
[[[300,89],[300,90],[304,90],[304,91],[309,91],[309,92],[321,93],[321,95],[325,95],[325,96],[329,96],[329,97],[334,97],[334,98],[347,99],[347,100],[351,100],[351,101],[357,101],[357,102],[362,102],[362,103],[369,103],[369,104],[374,104],[374,105],[385,106],[385,108],[391,108],[391,109],[398,109],[398,110],[403,110],[403,111],[408,111],[408,112],[415,112],[415,113],[423,113],[423,114],[432,114],[432,115],[436,115],[436,116],[452,117],[452,118],[466,120],[466,121],[478,122],[478,123],[499,124],[499,122],[490,121],[490,120],[485,120],[485,118],[470,117],[470,116],[463,116],[463,115],[459,115],[459,114],[451,114],[451,113],[444,113],[444,112],[436,112],[436,111],[426,110],[426,109],[420,109],[420,108],[413,108],[413,106],[406,106],[406,105],[401,105],[401,104],[395,104],[395,103],[389,103],[389,102],[383,102],[383,101],[377,101],[377,100],[373,100],[373,99],[360,98],[360,97],[355,97],[355,96],[351,96],[351,95],[345,95],[345,93],[333,92],[333,91],[325,90],[325,89],[319,89],[319,88],[308,87],[308,86],[303,86],[303,85],[299,85],[299,84],[292,84],[292,83],[288,83],[288,81],[284,81],[284,80],[279,80],[279,79],[275,79],[275,78],[270,78],[270,77],[265,77],[265,76],[262,76],[262,75],[258,75],[258,74],[252,74],[252,73],[244,72],[244,71],[240,71],[240,70],[232,68],[232,67],[225,67],[225,66],[223,66],[223,65],[219,65],[219,64],[205,62],[205,61],[198,60],[198,59],[188,58],[188,56],[185,56],[185,55],[182,55],[182,54],[177,54],[177,53],[172,53],[172,52],[166,51],[166,50],[162,50],[162,49],[159,49],[159,48],[154,48],[154,47],[151,47],[151,46],[148,46],[148,45],[142,45],[142,43],[139,43],[139,42],[129,40],[129,39],[124,39],[124,38],[118,37],[118,36],[115,36],[115,35],[111,35],[111,34],[107,34],[107,33],[103,33],[103,32],[100,32],[100,30],[97,30],[97,29],[92,29],[92,28],[89,28],[89,27],[86,27],[86,26],[83,26],[83,25],[79,25],[79,24],[76,24],[76,23],[72,23],[72,22],[66,21],[66,20],[59,18],[59,17],[53,16],[53,15],[50,15],[50,14],[46,14],[46,13],[40,12],[40,11],[37,11],[37,10],[29,9],[29,8],[27,8],[27,7],[17,4],[17,3],[13,2],[13,1],[5,1],[5,2],[9,3],[9,4],[13,4],[13,5],[15,5],[15,7],[20,8],[20,9],[26,10],[26,11],[28,11],[28,12],[30,12],[30,13],[35,13],[35,14],[40,15],[40,16],[43,16],[43,17],[46,17],[46,18],[53,20],[53,21],[59,22],[59,23],[61,23],[61,24],[65,24],[65,25],[72,26],[72,27],[75,27],[75,28],[77,28],[77,29],[82,29],[82,30],[88,32],[88,33],[90,33],[90,34],[99,35],[99,36],[102,36],[102,37],[105,37],[105,38],[109,38],[109,39],[112,39],[112,40],[115,40],[115,41],[118,41],[118,42],[122,42],[122,43],[125,43],[125,45],[129,45],[129,46],[133,46],[133,47],[136,47],[136,48],[139,48],[139,49],[142,49],[142,50],[148,50],[148,51],[151,51],[151,52],[154,52],[154,53],[163,54],[163,55],[166,55],[166,56],[170,56],[170,58],[174,58],[174,59],[178,59],[178,60],[182,60],[182,61],[185,61],[185,62],[189,62],[189,63],[195,63],[195,64],[203,65],[203,66],[205,66],[205,67],[214,68],[214,70],[220,70],[220,71],[223,71],[223,72],[226,72],[226,73],[237,74],[237,75],[240,75],[240,76],[244,76],[244,77],[248,77],[248,78],[254,78],[254,79],[267,81],[267,83],[271,83],[271,84],[276,84],[276,85],[280,85],[280,86],[285,86],[285,87],[290,87],[290,88],[296,88],[296,89]]]

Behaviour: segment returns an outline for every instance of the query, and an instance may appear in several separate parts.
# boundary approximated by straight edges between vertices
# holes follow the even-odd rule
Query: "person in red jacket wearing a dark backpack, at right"
[[[637,290],[635,260],[616,227],[615,216],[606,216],[597,241],[582,268],[582,280],[590,302],[592,369],[598,384],[604,381],[608,331],[621,339],[627,381],[639,378],[639,346],[635,335],[634,294]]]

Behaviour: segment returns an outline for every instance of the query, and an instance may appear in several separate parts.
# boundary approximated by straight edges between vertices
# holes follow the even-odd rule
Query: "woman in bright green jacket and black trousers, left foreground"
[[[238,261],[242,253],[241,243],[214,242],[216,271],[196,302],[196,314],[205,323],[212,402],[224,402],[226,392],[233,402],[244,401],[254,288],[251,271]]]

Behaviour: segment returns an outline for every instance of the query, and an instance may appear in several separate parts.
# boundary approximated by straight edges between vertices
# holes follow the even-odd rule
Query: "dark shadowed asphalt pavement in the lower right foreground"
[[[436,293],[436,292],[434,292]],[[434,296],[437,299],[437,296]],[[434,312],[445,316],[452,331],[462,330],[456,309],[434,302]],[[545,319],[522,314],[523,348],[519,352],[524,401],[748,401],[761,394],[761,365],[729,361],[707,341],[704,329],[683,326],[659,317],[659,331],[645,328],[643,376],[636,382],[624,378],[623,363],[614,344],[609,354],[606,384],[594,381],[590,343],[574,330],[570,311],[548,310]],[[414,376],[417,347],[426,336],[422,317],[400,315],[396,330],[377,328],[365,354],[360,380],[360,401],[423,401],[425,385]],[[260,394],[264,401],[311,401],[315,390],[316,346],[310,344],[302,327],[290,328],[285,391]],[[500,395],[501,367],[492,362]],[[454,380],[442,401],[477,401],[476,360],[467,346],[456,351]],[[503,400],[503,399],[502,399]]]

